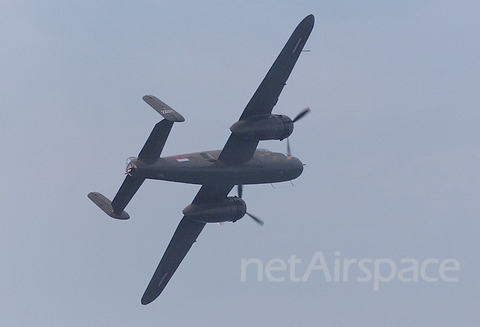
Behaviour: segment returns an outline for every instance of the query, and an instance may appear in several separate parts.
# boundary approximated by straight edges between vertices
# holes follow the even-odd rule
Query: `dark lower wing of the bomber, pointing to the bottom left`
[[[228,195],[233,186],[221,183],[203,185],[192,203],[201,204],[219,201]],[[149,304],[162,293],[183,258],[197,240],[203,227],[205,227],[205,223],[187,217],[182,218],[142,296],[142,304]]]

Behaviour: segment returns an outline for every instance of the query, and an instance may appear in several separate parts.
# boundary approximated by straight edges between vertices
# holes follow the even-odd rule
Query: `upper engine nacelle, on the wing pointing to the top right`
[[[293,122],[285,115],[257,116],[237,121],[230,131],[247,140],[281,141],[292,134]]]

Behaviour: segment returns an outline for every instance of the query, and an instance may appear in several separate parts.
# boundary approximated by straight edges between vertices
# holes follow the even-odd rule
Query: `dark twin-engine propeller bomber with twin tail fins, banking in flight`
[[[290,181],[303,172],[302,162],[290,153],[288,137],[294,123],[310,109],[305,108],[294,119],[272,114],[272,109],[313,25],[314,16],[308,15],[295,28],[239,120],[230,127],[230,137],[222,150],[160,157],[173,124],[185,119],[155,96],[143,97],[163,120],[155,125],[138,157],[129,158],[125,180],[113,201],[98,192],[89,193],[88,198],[110,217],[125,220],[130,216],[124,209],[145,179],[201,185],[192,203],[182,211],[183,218],[142,296],[143,305],[162,293],[207,223],[235,222],[247,215],[263,225],[247,212],[243,185]],[[286,155],[257,149],[261,140],[285,138]],[[228,196],[235,186],[238,196]]]

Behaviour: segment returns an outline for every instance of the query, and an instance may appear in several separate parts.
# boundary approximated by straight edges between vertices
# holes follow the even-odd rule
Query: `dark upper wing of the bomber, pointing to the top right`
[[[305,17],[293,31],[267,75],[243,110],[239,120],[272,113],[278,97],[313,29],[313,15]],[[243,164],[255,153],[258,141],[231,134],[218,160],[227,165]]]

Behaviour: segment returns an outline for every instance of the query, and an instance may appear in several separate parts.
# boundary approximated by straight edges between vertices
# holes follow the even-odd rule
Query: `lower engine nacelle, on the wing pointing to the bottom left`
[[[185,217],[202,223],[235,222],[245,216],[247,205],[237,197],[227,197],[225,201],[212,204],[190,204],[183,209]]]

